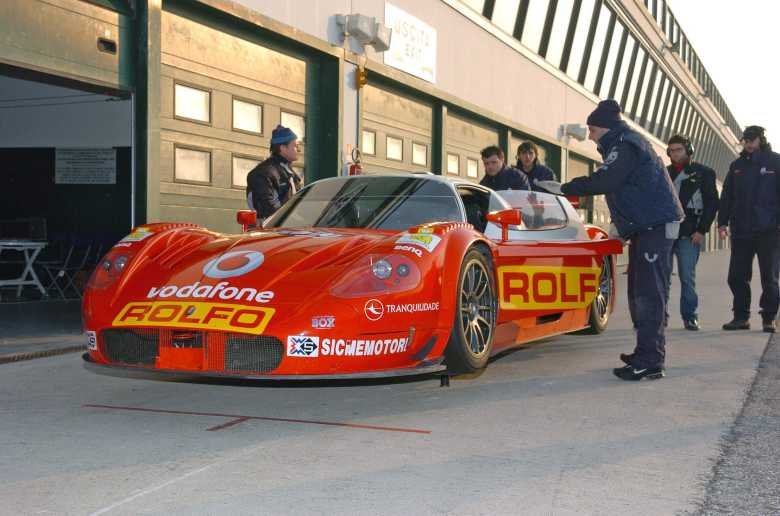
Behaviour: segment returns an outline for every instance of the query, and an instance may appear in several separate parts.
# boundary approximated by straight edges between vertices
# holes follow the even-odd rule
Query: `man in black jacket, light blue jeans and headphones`
[[[699,296],[696,294],[696,264],[699,262],[704,235],[718,211],[718,189],[715,171],[691,161],[693,144],[680,134],[669,139],[666,155],[672,164],[666,167],[680,199],[685,220],[672,247],[680,276],[680,315],[686,330],[699,329]]]

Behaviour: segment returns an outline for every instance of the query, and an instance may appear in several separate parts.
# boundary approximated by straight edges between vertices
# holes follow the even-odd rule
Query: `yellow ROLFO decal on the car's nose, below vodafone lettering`
[[[260,306],[181,301],[128,303],[114,326],[224,330],[260,335],[276,310]]]

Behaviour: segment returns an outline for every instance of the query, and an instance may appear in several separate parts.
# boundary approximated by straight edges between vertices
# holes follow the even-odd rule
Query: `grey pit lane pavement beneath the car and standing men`
[[[610,372],[633,346],[624,296],[605,334],[532,344],[449,388],[133,379],[77,354],[0,365],[0,514],[766,514],[777,351],[719,329],[727,263],[702,257],[698,333],[680,329],[674,277],[655,382]],[[774,369],[756,376],[765,348]],[[754,478],[772,485],[740,495]],[[752,494],[770,501],[751,509]]]

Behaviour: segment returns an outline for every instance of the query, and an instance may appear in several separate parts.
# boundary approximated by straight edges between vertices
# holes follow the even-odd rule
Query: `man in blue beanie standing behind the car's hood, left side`
[[[257,224],[278,210],[302,185],[293,170],[298,159],[298,136],[281,125],[271,133],[271,157],[246,176],[247,204],[257,212]]]

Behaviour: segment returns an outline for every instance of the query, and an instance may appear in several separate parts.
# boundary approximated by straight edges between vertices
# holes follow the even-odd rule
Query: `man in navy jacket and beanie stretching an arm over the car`
[[[671,253],[684,213],[663,162],[650,143],[620,116],[620,105],[604,100],[588,116],[588,138],[604,164],[593,175],[561,185],[565,195],[606,195],[612,224],[629,241],[628,306],[636,328],[633,353],[621,354],[621,380],[662,378],[666,358],[666,300]]]

